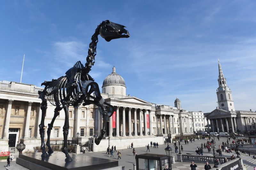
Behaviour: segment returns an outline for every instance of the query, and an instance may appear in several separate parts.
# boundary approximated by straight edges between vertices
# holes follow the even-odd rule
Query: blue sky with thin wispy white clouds
[[[40,86],[86,62],[101,21],[125,25],[128,39],[99,36],[90,75],[102,86],[116,67],[127,95],[210,112],[218,58],[236,110],[256,110],[256,1],[2,1],[0,80]]]

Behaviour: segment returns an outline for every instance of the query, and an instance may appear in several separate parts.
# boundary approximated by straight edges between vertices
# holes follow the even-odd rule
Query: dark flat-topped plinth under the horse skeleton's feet
[[[62,152],[54,152],[47,158],[41,157],[41,152],[19,154],[16,163],[28,168],[36,170],[84,170],[84,169],[111,169],[120,170],[122,166],[118,166],[118,161],[102,159],[86,156],[84,154],[70,154],[73,161],[65,162],[65,154]]]

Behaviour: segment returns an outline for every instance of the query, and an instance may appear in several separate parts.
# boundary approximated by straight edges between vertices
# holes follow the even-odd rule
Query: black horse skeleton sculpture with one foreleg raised
[[[103,138],[106,132],[106,122],[109,121],[109,117],[112,116],[114,108],[112,105],[106,103],[100,95],[100,89],[94,79],[88,74],[91,70],[91,67],[94,65],[94,59],[96,55],[96,46],[98,43],[98,35],[104,38],[106,41],[118,38],[128,38],[130,34],[127,30],[124,29],[124,25],[119,25],[109,20],[102,21],[100,25],[95,30],[95,33],[92,35],[92,42],[89,45],[88,56],[86,58],[85,67],[81,61],[77,61],[74,67],[70,68],[65,76],[62,76],[56,80],[44,81],[42,85],[45,86],[43,91],[38,91],[39,98],[42,99],[41,110],[42,110],[42,119],[39,125],[39,132],[41,136],[41,149],[42,157],[47,157],[48,154],[53,153],[50,146],[50,134],[53,128],[53,123],[56,117],[60,114],[60,110],[64,109],[65,111],[65,122],[63,126],[63,136],[64,136],[64,145],[62,152],[65,153],[65,161],[72,161],[72,158],[68,154],[67,148],[67,138],[68,138],[68,107],[74,106],[78,107],[83,103],[83,105],[95,104],[99,107],[100,114],[103,116],[103,127],[101,129],[101,134],[98,138],[95,139],[95,144],[99,145],[100,140]],[[94,92],[95,97],[92,96]],[[54,116],[50,124],[48,124],[47,129],[47,142],[48,154],[45,151],[44,145],[44,118],[47,109],[47,100],[56,106],[54,109]],[[91,100],[91,99],[93,100]],[[107,105],[107,106],[106,106]]]

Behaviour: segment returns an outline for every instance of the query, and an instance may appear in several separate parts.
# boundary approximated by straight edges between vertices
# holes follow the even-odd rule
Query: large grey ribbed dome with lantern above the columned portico
[[[109,85],[120,85],[125,86],[124,78],[116,73],[116,67],[113,67],[113,72],[109,74],[103,81],[102,87],[109,86]]]

